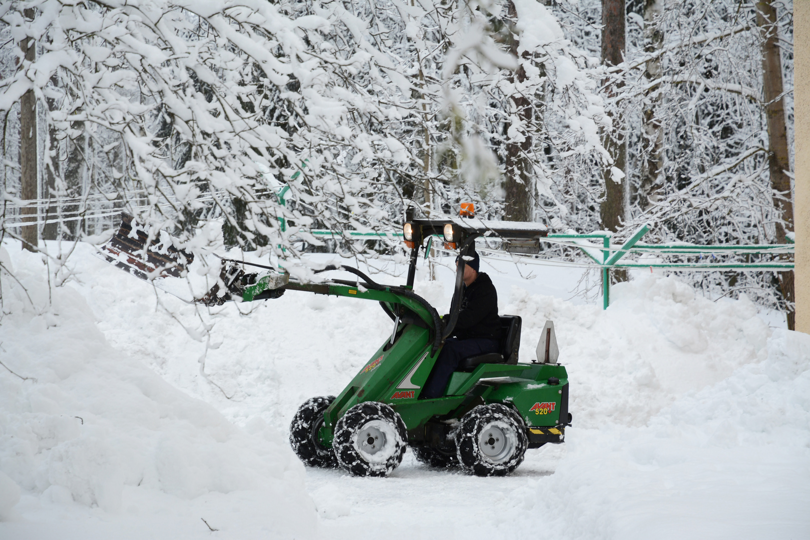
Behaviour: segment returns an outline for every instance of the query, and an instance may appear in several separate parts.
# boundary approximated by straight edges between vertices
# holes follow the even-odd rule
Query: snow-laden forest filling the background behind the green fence
[[[0,235],[54,275],[121,210],[193,246],[376,257],[400,248],[307,231],[471,201],[616,241],[784,244],[792,73],[791,2],[2,2]],[[792,272],[682,274],[793,328]]]

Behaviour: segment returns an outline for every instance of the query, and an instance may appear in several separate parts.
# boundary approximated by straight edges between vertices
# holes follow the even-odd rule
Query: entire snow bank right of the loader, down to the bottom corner
[[[554,474],[514,492],[554,516],[540,538],[808,533],[810,336],[659,274],[616,286],[606,311],[514,288],[505,312],[527,351],[555,321],[571,381],[566,443],[541,449]]]

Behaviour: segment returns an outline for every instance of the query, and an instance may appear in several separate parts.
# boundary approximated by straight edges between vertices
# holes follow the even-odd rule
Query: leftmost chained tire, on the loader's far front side
[[[290,423],[290,446],[301,461],[311,467],[335,468],[338,460],[329,447],[318,440],[318,430],[323,425],[323,411],[335,401],[335,396],[309,398],[292,417]]]

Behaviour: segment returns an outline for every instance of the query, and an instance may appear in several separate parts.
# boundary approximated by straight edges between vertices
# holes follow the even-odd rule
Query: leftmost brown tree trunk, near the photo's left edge
[[[34,10],[24,12],[26,19],[34,18]],[[27,62],[36,60],[36,41],[26,37],[19,42],[19,48]],[[28,90],[19,100],[19,172],[20,172],[20,198],[23,201],[36,199],[36,96],[33,90]],[[36,222],[36,204],[24,206],[19,210],[23,223]],[[37,225],[24,225],[20,227],[23,237],[23,249],[36,251]]]

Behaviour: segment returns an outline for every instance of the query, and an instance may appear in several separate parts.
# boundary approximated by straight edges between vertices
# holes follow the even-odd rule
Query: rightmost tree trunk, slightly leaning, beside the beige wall
[[[774,193],[774,206],[782,216],[776,223],[776,240],[786,242],[787,231],[793,231],[793,202],[791,178],[787,176],[791,164],[787,154],[787,127],[785,104],[782,99],[782,57],[778,43],[776,8],[770,0],[757,2],[757,26],[762,36],[762,89],[765,117],[768,121],[768,165],[770,185]],[[789,303],[795,300],[793,272],[779,272],[779,287],[782,298]],[[795,311],[787,313],[787,327],[795,330]]]

